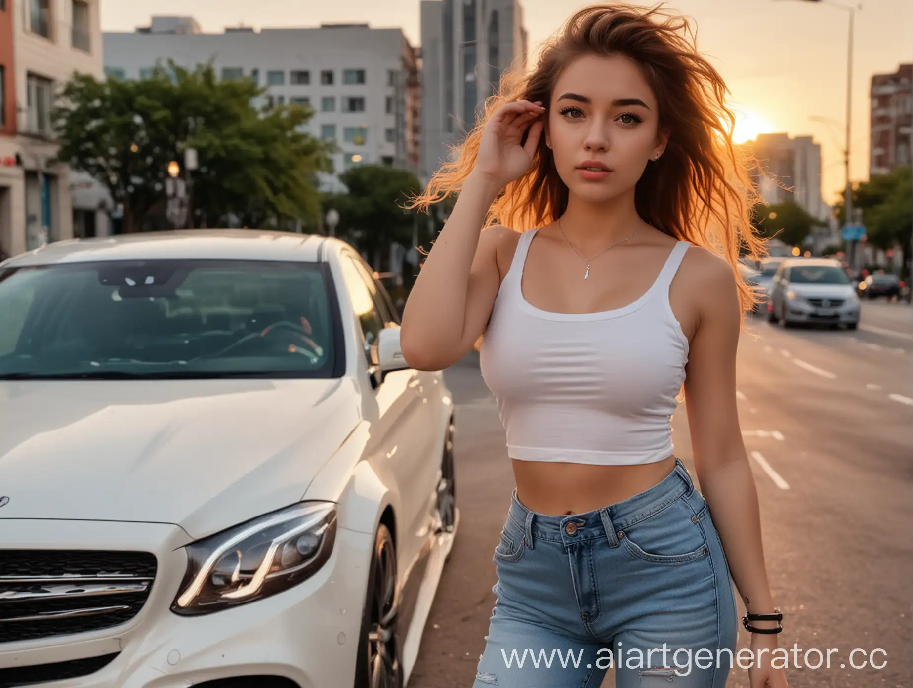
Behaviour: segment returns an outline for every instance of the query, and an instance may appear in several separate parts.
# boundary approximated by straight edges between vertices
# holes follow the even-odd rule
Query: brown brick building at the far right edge
[[[868,174],[887,175],[913,159],[913,64],[900,65],[893,74],[874,75],[870,98],[872,145]]]

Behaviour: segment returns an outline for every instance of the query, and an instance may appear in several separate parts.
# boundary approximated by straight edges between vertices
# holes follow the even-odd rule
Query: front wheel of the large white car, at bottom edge
[[[362,613],[354,688],[401,688],[403,685],[396,633],[398,611],[396,549],[393,536],[387,526],[381,524],[368,572],[368,595]]]

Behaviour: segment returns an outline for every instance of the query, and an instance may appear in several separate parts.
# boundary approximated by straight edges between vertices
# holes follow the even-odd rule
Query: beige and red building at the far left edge
[[[98,0],[0,0],[0,250],[104,234],[107,201],[55,164],[55,92],[74,71],[102,75]]]

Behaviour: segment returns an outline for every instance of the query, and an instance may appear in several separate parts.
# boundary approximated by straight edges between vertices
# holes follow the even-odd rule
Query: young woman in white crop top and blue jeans
[[[404,357],[439,370],[484,334],[517,482],[476,688],[599,686],[608,666],[618,688],[719,688],[730,572],[751,688],[787,685],[736,410],[737,259],[764,247],[727,92],[687,20],[582,9],[415,201],[459,191]],[[701,492],[671,440],[683,385]]]

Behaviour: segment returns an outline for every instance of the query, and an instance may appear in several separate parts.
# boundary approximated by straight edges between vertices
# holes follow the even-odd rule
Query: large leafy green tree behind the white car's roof
[[[250,79],[215,79],[212,65],[188,70],[171,62],[139,81],[78,74],[53,113],[58,158],[107,186],[128,232],[155,226],[168,164],[183,164],[188,147],[199,160],[191,177],[197,224],[316,219],[315,176],[330,171],[331,149],[300,131],[309,108],[259,112],[251,103],[262,93]]]

